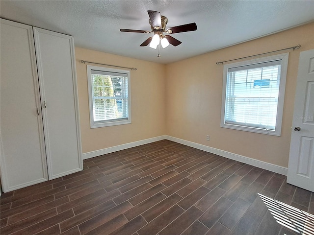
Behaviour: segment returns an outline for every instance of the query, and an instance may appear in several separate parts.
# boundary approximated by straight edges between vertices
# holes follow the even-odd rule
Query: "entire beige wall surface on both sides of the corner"
[[[314,24],[306,24],[168,65],[76,47],[83,153],[169,135],[287,167],[299,53],[314,48],[313,32]],[[223,66],[216,61],[297,44],[298,50],[279,52],[289,52],[281,136],[221,128]],[[131,71],[131,124],[90,129],[86,65],[80,60],[137,68]]]

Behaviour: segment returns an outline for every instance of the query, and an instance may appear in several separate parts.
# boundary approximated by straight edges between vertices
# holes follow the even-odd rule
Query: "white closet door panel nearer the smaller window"
[[[33,27],[49,179],[83,169],[73,37]]]

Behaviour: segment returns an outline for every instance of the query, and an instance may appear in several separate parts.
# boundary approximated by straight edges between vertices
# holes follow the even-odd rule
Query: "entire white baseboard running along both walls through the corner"
[[[203,144],[199,144],[199,143],[195,143],[195,142],[191,142],[191,141],[185,141],[176,137],[172,137],[172,136],[158,136],[158,137],[154,137],[154,138],[150,138],[150,139],[146,139],[146,140],[142,140],[142,141],[135,141],[135,142],[131,142],[131,143],[125,143],[125,144],[121,144],[121,145],[117,145],[117,146],[113,146],[113,147],[109,147],[109,148],[105,148],[105,149],[100,149],[100,150],[96,150],[96,151],[92,151],[92,152],[88,152],[88,153],[83,153],[82,157],[83,159],[88,159],[88,158],[93,158],[93,157],[97,157],[100,155],[104,155],[107,153],[113,153],[116,151],[120,151],[120,150],[124,150],[124,149],[128,149],[128,148],[132,148],[132,147],[136,147],[136,146],[140,146],[143,144],[147,144],[147,143],[152,143],[152,142],[156,142],[156,141],[161,141],[161,140],[169,140],[169,141],[174,141],[177,143],[181,143],[184,144],[186,146],[190,146],[193,148],[197,148],[209,153],[213,153],[213,154],[217,154],[219,156],[225,157],[225,158],[229,158],[241,163],[245,163],[245,164],[249,164],[249,165],[253,165],[256,167],[260,167],[262,169],[265,170],[269,170],[278,174],[282,174],[282,175],[287,175],[288,172],[288,168],[287,167],[283,167],[280,165],[275,165],[275,164],[271,164],[271,163],[267,163],[267,162],[263,162],[260,160],[256,160],[253,158],[249,158],[249,157],[245,157],[239,154],[235,154],[235,153],[231,153],[225,150],[220,150],[217,148],[212,148]]]

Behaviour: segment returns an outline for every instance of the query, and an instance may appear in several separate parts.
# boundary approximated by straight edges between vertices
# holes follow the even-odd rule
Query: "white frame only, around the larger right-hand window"
[[[223,128],[230,128],[240,131],[255,132],[267,135],[281,136],[281,126],[284,110],[284,97],[285,97],[285,88],[286,88],[286,76],[288,69],[288,55],[289,53],[278,54],[273,56],[262,57],[253,60],[241,61],[232,64],[226,64],[223,68],[223,90],[222,90],[222,107],[221,107],[221,120],[220,126]],[[277,118],[275,130],[266,130],[256,127],[248,127],[239,124],[230,124],[225,121],[225,108],[226,108],[226,89],[227,89],[227,75],[230,68],[241,67],[254,65],[269,61],[281,60],[281,73],[280,73],[280,85],[279,85],[279,94],[278,94],[278,104],[277,104]]]

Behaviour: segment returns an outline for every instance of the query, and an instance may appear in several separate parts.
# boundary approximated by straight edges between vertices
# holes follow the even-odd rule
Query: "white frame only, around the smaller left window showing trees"
[[[92,71],[127,74],[127,76],[128,76],[128,79],[127,79],[128,80],[128,118],[118,118],[118,119],[111,119],[111,120],[109,119],[109,120],[103,120],[103,121],[95,121],[94,120]],[[87,78],[88,78],[87,80],[88,80],[90,128],[130,124],[131,123],[131,71],[87,65]]]

